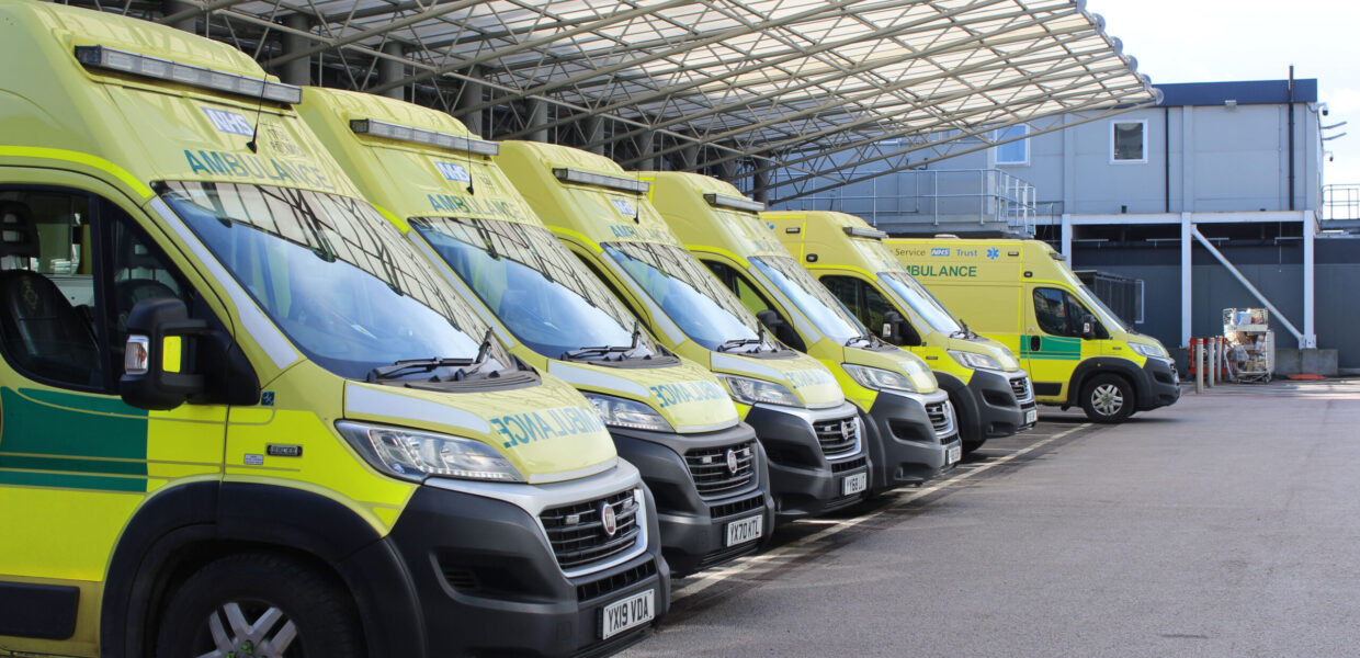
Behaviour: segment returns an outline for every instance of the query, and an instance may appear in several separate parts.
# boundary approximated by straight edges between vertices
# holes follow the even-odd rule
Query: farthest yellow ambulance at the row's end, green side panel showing
[[[1180,398],[1167,348],[1121,322],[1047,243],[940,237],[887,245],[956,317],[1020,355],[1040,404],[1119,423]]]

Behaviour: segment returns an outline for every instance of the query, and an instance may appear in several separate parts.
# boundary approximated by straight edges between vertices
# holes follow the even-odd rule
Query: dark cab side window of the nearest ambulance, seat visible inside
[[[141,299],[186,287],[136,222],[98,196],[0,189],[0,351],[24,377],[117,390],[126,321]]]

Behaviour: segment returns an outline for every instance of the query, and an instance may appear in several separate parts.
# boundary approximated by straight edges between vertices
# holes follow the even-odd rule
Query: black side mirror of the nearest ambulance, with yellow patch
[[[189,371],[193,341],[208,324],[189,317],[175,298],[143,299],[128,314],[128,343],[122,353],[122,401],[140,409],[174,409],[207,390],[201,374]]]

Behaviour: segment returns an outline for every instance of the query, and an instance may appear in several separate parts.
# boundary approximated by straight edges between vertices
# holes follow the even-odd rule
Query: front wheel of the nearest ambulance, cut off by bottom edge
[[[350,594],[291,557],[242,553],[190,576],[170,600],[158,658],[359,658]]]

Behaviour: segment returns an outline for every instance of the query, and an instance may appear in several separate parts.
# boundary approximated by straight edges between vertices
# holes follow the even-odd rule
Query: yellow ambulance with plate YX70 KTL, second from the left
[[[513,355],[596,405],[657,499],[672,572],[768,537],[764,453],[726,390],[658,345],[552,237],[496,167],[496,143],[446,113],[373,94],[309,87],[298,113]]]

